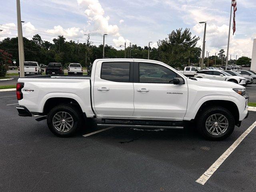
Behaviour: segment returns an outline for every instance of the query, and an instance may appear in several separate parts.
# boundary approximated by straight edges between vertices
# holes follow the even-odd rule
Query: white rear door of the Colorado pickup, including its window
[[[134,112],[133,60],[98,61],[93,96],[98,117],[132,116]]]

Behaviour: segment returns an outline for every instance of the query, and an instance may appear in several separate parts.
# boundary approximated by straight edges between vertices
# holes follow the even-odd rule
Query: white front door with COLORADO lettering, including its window
[[[188,86],[174,85],[180,77],[168,66],[134,62],[134,114],[152,119],[182,119],[188,102]]]

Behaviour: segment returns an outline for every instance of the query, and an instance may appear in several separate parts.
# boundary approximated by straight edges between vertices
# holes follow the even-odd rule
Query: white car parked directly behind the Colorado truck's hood
[[[246,85],[246,79],[241,76],[232,76],[229,73],[222,70],[202,70],[198,71],[194,77],[207,78],[221,81],[230,81],[240,85]]]

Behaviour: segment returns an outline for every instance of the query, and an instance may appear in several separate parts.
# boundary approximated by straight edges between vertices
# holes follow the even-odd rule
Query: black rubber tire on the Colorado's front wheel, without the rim
[[[226,120],[228,121],[228,125],[226,125],[227,126],[226,130],[223,133],[219,134],[219,135],[211,134],[210,132],[208,132],[208,130],[206,128],[207,127],[206,126],[206,120],[209,120],[210,116],[214,115],[214,114],[220,114],[220,115],[224,116],[226,118]],[[212,120],[212,122],[214,122],[214,120]],[[228,136],[230,136],[230,134],[232,134],[232,132],[234,131],[234,127],[235,127],[235,120],[234,120],[234,116],[232,115],[232,113],[228,109],[226,109],[224,107],[221,107],[221,106],[211,106],[211,107],[203,109],[200,112],[199,116],[197,117],[196,124],[197,124],[198,132],[204,138],[206,138],[208,140],[217,141],[217,140],[224,140]],[[209,124],[208,126],[211,126],[211,125]],[[213,126],[212,129],[215,128],[216,132],[217,132],[216,126],[214,124],[212,126]],[[220,132],[220,127],[219,126],[218,126],[218,130]]]

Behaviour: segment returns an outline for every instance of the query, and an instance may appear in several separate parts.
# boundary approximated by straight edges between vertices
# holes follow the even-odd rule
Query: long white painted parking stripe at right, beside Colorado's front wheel
[[[206,181],[214,174],[220,165],[228,158],[228,156],[236,149],[236,147],[244,140],[244,138],[256,126],[256,121],[196,180],[196,182],[204,185]]]

